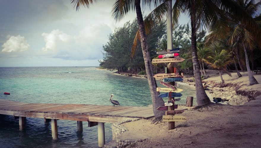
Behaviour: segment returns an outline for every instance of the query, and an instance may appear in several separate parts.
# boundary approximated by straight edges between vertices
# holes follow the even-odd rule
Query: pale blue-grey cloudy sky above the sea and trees
[[[70,0],[0,0],[0,67],[99,66],[108,35],[136,17],[132,12],[115,22],[113,3],[76,12]],[[182,15],[179,23],[188,21]]]

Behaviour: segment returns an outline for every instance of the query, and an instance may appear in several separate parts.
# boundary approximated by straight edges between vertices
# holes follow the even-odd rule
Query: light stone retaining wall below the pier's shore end
[[[122,123],[131,122],[131,121],[137,121],[140,120],[140,118],[133,118],[129,120],[123,120],[112,124],[112,140],[117,139],[122,133],[125,131],[128,131],[127,128],[122,127]]]

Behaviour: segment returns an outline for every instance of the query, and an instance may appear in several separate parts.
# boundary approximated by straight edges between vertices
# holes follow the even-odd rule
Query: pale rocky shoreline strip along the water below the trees
[[[97,67],[96,67],[97,68]],[[99,69],[99,68],[97,68]],[[108,70],[108,69],[99,69],[99,70]],[[116,70],[115,70],[116,71]],[[139,74],[131,74],[130,71],[128,72],[113,72],[113,74],[119,74],[119,75],[124,75],[126,77],[135,77],[135,78],[142,78],[145,79],[144,75],[139,75]],[[247,72],[241,72],[243,74],[244,79],[241,81],[238,81],[241,78],[237,78],[237,73],[233,72],[231,73],[233,76],[228,77],[227,74],[223,74],[223,79],[225,83],[222,83],[218,74],[217,70],[206,70],[206,74],[208,75],[208,78],[203,79],[203,85],[205,85],[205,92],[207,95],[210,97],[210,101],[213,101],[213,97],[215,98],[222,98],[223,100],[228,100],[222,102],[223,104],[227,105],[243,105],[249,102],[250,100],[254,99],[254,97],[259,96],[261,94],[260,92],[257,92],[257,90],[252,90],[251,95],[248,95],[248,92],[245,91],[244,89],[240,89],[243,85],[241,85],[241,82],[246,82],[246,74]],[[182,85],[190,85],[192,87],[195,87],[195,82],[192,80],[193,77],[186,77],[184,76]],[[147,78],[146,78],[147,79]],[[160,79],[156,79],[160,80]],[[248,80],[248,79],[247,79]],[[244,85],[245,86],[245,85]],[[254,91],[254,92],[253,92]],[[221,102],[219,102],[221,103]]]

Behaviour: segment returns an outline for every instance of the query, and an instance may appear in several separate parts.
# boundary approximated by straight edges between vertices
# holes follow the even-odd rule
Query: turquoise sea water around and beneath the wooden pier
[[[158,83],[158,86],[160,84]],[[163,87],[163,86],[162,86]],[[195,88],[179,85],[185,104]],[[9,92],[11,95],[4,95]],[[0,98],[26,103],[112,105],[110,95],[123,106],[152,104],[147,79],[126,77],[95,67],[0,67]],[[166,102],[167,98],[163,98]],[[98,147],[97,126],[77,132],[77,121],[58,120],[58,141],[52,141],[51,125],[44,119],[27,118],[19,131],[18,119],[0,115],[0,147]],[[105,123],[105,141],[112,140],[111,124]]]

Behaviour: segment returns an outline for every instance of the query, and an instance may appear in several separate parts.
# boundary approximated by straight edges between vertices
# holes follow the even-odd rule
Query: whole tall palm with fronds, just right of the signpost
[[[157,3],[157,1],[155,2]],[[163,4],[166,2],[167,1],[163,1]],[[160,6],[162,6],[162,4],[147,16],[147,21],[145,21],[145,18],[145,26],[148,26],[146,28],[153,26],[154,22],[152,17],[157,18],[158,21],[165,17],[166,10],[164,11],[164,9],[160,9]],[[217,33],[226,33],[229,31],[229,27],[227,25],[227,22],[230,22],[229,18],[233,18],[241,22],[247,22],[246,27],[254,28],[253,32],[255,31],[256,33],[258,33],[258,31],[255,29],[257,28],[257,24],[248,13],[243,11],[243,9],[235,3],[234,0],[176,0],[174,3],[172,15],[173,26],[177,26],[178,18],[181,12],[188,14],[191,20],[191,51],[195,77],[196,97],[198,106],[205,106],[210,104],[210,100],[206,95],[205,90],[203,89],[201,81],[196,48],[196,32],[198,29],[202,30],[206,27]],[[139,36],[136,34],[134,43],[138,41],[138,37]],[[133,44],[133,46],[135,47],[135,44]]]

